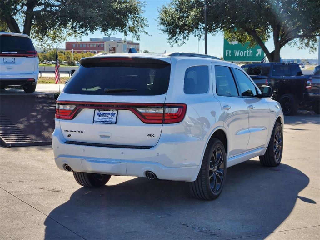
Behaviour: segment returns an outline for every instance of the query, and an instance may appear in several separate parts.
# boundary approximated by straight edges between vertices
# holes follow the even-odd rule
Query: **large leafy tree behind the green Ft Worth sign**
[[[300,49],[317,49],[320,35],[319,0],[210,0],[208,33],[224,32],[230,41],[250,46],[259,44],[270,62],[280,61],[280,50],[286,44]],[[204,1],[172,0],[159,9],[161,30],[168,42],[184,44],[190,35],[204,34]],[[273,37],[274,50],[265,42]]]

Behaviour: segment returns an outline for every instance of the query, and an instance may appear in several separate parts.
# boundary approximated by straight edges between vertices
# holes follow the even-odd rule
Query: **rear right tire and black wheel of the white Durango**
[[[189,182],[191,194],[198,199],[216,199],[221,194],[226,175],[226,150],[219,139],[213,138],[205,149],[201,169],[196,180]],[[219,180],[220,182],[218,182]]]

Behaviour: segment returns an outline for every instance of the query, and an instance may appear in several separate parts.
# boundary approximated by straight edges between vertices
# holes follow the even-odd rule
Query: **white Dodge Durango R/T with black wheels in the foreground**
[[[262,89],[207,55],[83,58],[57,100],[55,162],[84,187],[139,176],[187,181],[196,198],[215,199],[227,167],[256,156],[280,164],[284,117]]]

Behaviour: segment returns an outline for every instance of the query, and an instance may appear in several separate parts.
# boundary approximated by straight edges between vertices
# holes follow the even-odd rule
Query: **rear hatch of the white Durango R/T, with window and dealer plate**
[[[163,112],[181,111],[164,105],[171,71],[167,59],[99,56],[80,64],[56,111],[70,142],[152,147],[160,138]]]

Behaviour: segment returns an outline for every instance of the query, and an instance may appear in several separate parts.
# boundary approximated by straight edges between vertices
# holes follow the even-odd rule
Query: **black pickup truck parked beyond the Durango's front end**
[[[320,110],[320,79],[303,75],[297,63],[253,63],[241,66],[260,88],[272,87],[273,99],[280,102],[284,115],[295,115],[299,107]]]

